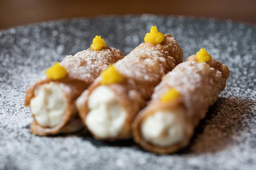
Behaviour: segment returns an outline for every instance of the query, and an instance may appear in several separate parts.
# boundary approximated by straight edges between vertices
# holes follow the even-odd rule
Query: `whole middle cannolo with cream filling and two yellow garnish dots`
[[[172,35],[163,35],[152,26],[144,40],[103,71],[77,99],[82,122],[97,139],[130,138],[131,122],[150,99],[154,87],[182,62],[183,52]]]

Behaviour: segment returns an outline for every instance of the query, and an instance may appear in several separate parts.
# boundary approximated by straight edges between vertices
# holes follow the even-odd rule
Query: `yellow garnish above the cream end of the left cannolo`
[[[53,64],[50,68],[45,71],[48,78],[58,80],[64,78],[67,75],[65,67],[61,66],[58,62]]]

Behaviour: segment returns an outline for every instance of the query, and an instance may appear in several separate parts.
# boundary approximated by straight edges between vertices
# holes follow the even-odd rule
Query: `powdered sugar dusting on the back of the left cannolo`
[[[102,70],[122,58],[124,54],[111,47],[97,51],[88,49],[78,52],[74,57],[66,56],[61,64],[67,69],[69,77],[91,84]]]

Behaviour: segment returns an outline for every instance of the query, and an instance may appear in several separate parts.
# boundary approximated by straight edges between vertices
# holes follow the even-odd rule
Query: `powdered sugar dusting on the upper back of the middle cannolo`
[[[115,66],[128,78],[154,82],[180,63],[182,54],[177,40],[171,35],[165,35],[161,44],[141,43]]]

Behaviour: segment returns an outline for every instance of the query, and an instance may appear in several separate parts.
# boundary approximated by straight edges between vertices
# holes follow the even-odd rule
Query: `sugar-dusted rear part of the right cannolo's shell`
[[[161,83],[155,88],[152,99],[159,100],[168,89],[174,87],[181,94],[187,108],[186,116],[198,120],[217,100],[224,82],[220,71],[206,63],[188,61],[179,64],[162,78]]]

